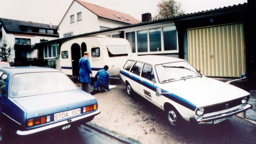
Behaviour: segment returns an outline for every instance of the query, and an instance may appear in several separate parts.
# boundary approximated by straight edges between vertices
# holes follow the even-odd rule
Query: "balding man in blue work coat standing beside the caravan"
[[[82,83],[82,91],[85,91],[87,93],[90,93],[90,83],[91,83],[91,77],[92,75],[92,68],[90,66],[90,61],[89,61],[89,52],[84,52],[84,56],[79,59],[79,79],[80,82]],[[91,77],[90,77],[91,74]]]

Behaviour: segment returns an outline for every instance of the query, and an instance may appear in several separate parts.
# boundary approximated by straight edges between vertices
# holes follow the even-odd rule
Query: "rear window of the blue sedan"
[[[11,96],[23,97],[75,90],[77,87],[62,72],[35,72],[15,74],[11,83]]]

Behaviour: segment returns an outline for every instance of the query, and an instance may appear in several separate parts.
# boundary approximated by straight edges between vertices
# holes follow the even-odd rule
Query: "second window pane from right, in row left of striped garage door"
[[[149,50],[161,51],[161,28],[149,29]]]

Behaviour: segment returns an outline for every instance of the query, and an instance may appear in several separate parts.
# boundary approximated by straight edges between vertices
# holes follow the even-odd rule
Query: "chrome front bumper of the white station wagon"
[[[221,118],[225,118],[225,117],[229,117],[229,116],[232,116],[232,115],[236,115],[238,113],[241,113],[241,112],[244,112],[248,109],[251,109],[252,108],[252,105],[250,104],[247,104],[245,106],[242,106],[241,108],[237,108],[237,109],[234,109],[234,110],[231,110],[231,111],[228,111],[228,112],[225,112],[225,113],[220,113],[220,114],[217,114],[217,115],[212,115],[212,116],[208,116],[208,117],[200,117],[198,119],[195,119],[195,118],[190,118],[190,122],[192,123],[206,123],[206,122],[212,122],[216,119],[221,119]]]

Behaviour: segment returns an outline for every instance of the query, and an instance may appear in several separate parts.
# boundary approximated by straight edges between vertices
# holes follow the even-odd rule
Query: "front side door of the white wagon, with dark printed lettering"
[[[159,106],[158,97],[155,95],[156,80],[152,69],[152,65],[144,64],[141,77],[139,78],[139,91],[151,103]]]

